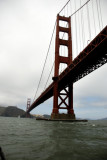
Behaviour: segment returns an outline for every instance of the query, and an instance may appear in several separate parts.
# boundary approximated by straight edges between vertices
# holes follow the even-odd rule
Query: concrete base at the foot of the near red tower
[[[51,119],[52,120],[72,120],[72,119],[75,119],[75,114],[65,114],[65,113],[62,113],[62,114],[56,114],[56,113],[52,113],[51,114]]]

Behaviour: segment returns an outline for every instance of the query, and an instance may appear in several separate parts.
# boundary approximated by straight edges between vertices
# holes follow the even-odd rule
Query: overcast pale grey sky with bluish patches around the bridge
[[[0,106],[26,110],[27,98],[34,98],[56,15],[66,2],[0,0]],[[103,18],[106,8],[102,0]],[[107,64],[74,84],[74,111],[81,118],[107,117]],[[32,111],[51,112],[52,99]]]

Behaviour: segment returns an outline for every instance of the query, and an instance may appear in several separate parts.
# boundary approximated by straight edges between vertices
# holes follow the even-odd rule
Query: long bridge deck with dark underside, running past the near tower
[[[107,63],[107,26],[59,75],[58,87],[63,90],[69,83],[75,83],[84,76]],[[105,73],[106,74],[106,73]],[[27,113],[53,96],[54,82],[32,103]]]

